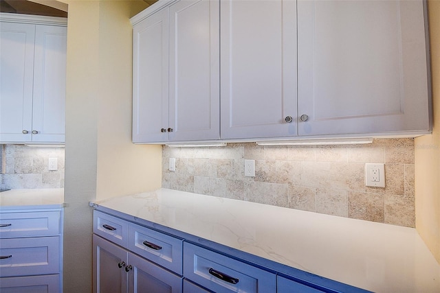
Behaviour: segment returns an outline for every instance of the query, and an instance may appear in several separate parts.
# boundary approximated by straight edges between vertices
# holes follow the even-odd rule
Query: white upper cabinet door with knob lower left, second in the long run
[[[219,1],[179,1],[168,15],[169,140],[219,139]]]

